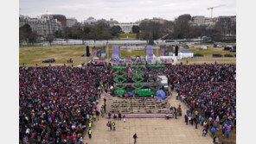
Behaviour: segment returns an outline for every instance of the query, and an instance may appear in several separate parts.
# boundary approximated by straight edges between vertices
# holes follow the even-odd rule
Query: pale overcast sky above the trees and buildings
[[[174,20],[182,14],[210,17],[207,8],[222,4],[214,9],[214,16],[236,15],[236,0],[20,0],[20,14],[34,17],[48,11],[75,17],[79,22],[89,16],[136,22],[152,17]]]

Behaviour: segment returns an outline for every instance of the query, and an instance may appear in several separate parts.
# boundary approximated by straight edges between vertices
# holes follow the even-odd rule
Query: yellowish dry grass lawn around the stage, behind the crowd
[[[186,64],[187,60],[189,64],[203,64],[203,63],[235,63],[236,58],[211,58],[212,53],[230,53],[223,51],[222,48],[209,48],[208,50],[197,50],[195,47],[190,47],[189,50],[194,51],[194,53],[202,53],[206,57],[203,58],[192,58],[192,59],[182,59],[182,63]],[[24,63],[25,66],[48,66],[49,64],[42,63],[44,59],[55,59],[55,62],[51,66],[62,66],[66,64],[71,66],[72,64],[67,64],[67,59],[74,59],[74,66],[79,66],[81,63],[85,62],[85,59],[90,59],[86,57],[81,57],[80,55],[85,53],[84,46],[62,46],[62,47],[26,47],[19,49],[19,66]],[[92,47],[90,47],[90,53],[92,54]],[[154,54],[157,55],[157,49],[154,49]],[[160,55],[160,51],[158,51]],[[234,53],[233,53],[234,54]],[[144,49],[141,50],[129,50],[121,49],[120,56],[144,56]],[[109,58],[112,57],[112,45],[109,48]]]

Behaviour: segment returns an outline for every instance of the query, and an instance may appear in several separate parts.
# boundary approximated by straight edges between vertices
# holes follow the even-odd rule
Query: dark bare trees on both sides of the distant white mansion
[[[54,38],[86,40],[111,40],[121,33],[119,26],[110,27],[106,22],[97,22],[94,25],[81,25],[76,23],[73,27],[65,27],[57,30],[55,34],[48,34],[44,38],[51,43]],[[222,18],[211,26],[191,25],[185,20],[174,22],[152,22],[143,21],[139,26],[132,27],[132,33],[137,34],[140,40],[166,40],[166,39],[191,39],[202,36],[209,36],[213,41],[221,41],[227,34],[236,34],[236,24],[228,18]],[[35,43],[37,34],[32,32],[29,24],[20,28],[20,41]]]

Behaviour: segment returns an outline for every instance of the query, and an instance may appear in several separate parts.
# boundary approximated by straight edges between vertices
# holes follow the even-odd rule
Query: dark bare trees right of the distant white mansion
[[[189,21],[174,22],[141,22],[141,40],[159,39],[193,39],[202,36],[211,37],[213,41],[221,41],[227,35],[236,34],[236,23],[229,18],[220,19],[214,25],[192,25]]]

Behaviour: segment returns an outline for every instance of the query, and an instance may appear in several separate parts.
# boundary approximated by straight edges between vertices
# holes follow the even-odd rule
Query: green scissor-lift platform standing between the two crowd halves
[[[153,73],[145,73],[147,68],[163,68],[163,65],[157,66],[113,66],[114,69],[114,89],[112,94],[115,96],[152,96],[158,90],[166,90],[166,85],[162,84],[162,78]],[[168,88],[168,87],[167,87]]]

